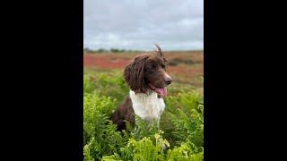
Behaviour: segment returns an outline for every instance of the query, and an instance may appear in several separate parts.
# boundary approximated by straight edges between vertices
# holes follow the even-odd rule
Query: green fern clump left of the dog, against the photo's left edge
[[[100,97],[98,93],[84,96],[85,160],[91,160],[91,157],[100,160],[102,156],[113,154],[126,145],[127,139],[117,131],[117,125],[109,121],[114,106],[115,100],[110,97]]]

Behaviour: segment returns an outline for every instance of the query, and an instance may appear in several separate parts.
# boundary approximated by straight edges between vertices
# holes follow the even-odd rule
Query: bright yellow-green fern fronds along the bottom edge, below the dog
[[[167,140],[161,139],[161,132],[154,134],[155,143],[150,138],[142,140],[130,139],[125,148],[120,148],[121,153],[102,157],[103,161],[111,160],[139,160],[139,161],[165,161],[165,160],[188,160],[202,161],[204,152],[198,152],[198,148],[190,142],[181,143],[179,147],[164,151],[163,144],[170,147]]]

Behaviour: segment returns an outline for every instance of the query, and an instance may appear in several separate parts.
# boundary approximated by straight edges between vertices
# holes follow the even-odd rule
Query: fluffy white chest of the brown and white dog
[[[149,91],[145,94],[135,94],[133,90],[130,90],[129,95],[132,100],[135,114],[147,121],[152,121],[153,118],[156,120],[161,118],[165,104],[162,97],[158,98],[157,93]]]

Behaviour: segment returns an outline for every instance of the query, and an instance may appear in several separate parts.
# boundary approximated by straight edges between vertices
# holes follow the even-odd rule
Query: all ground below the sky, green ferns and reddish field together
[[[109,116],[128,95],[122,72],[140,53],[83,54],[83,159],[204,160],[204,53],[166,52],[173,79],[160,129],[116,131]],[[149,131],[149,132],[147,132]],[[167,149],[162,149],[162,144]]]

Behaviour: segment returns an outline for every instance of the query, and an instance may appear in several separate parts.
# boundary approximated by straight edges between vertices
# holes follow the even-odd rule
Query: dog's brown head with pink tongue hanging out
[[[145,93],[151,89],[161,97],[167,96],[167,86],[172,79],[166,72],[168,61],[161,53],[161,47],[155,46],[158,51],[135,56],[135,59],[126,66],[124,77],[127,85],[135,93]]]

